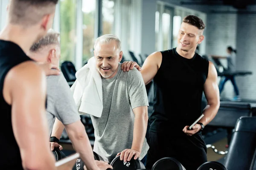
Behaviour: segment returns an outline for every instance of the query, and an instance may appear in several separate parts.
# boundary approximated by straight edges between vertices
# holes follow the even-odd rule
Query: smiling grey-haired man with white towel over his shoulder
[[[85,80],[83,79],[84,84],[87,85],[82,86],[84,88],[82,91],[89,88],[89,91],[92,92],[98,86],[102,88],[103,109],[100,116],[93,115],[93,112],[100,110],[100,102],[92,110],[87,109],[86,111],[90,114],[94,127],[95,143],[93,151],[109,163],[116,155],[121,155],[121,160],[130,161],[134,156],[133,159],[140,159],[145,164],[148,151],[148,144],[145,139],[148,123],[148,97],[143,78],[136,68],[129,72],[121,70],[121,42],[113,34],[102,35],[96,39],[94,59],[95,65],[92,67],[91,74],[99,74],[102,84],[96,79],[88,80],[89,72],[84,71],[84,68],[90,65],[91,62],[89,61],[92,61],[90,59],[88,64],[78,71],[79,74],[76,74],[77,80],[71,88],[71,90],[74,89],[74,94],[76,94],[79,85],[81,85],[78,85],[78,83],[82,81],[79,79],[80,73],[82,77],[88,76],[84,78]],[[89,87],[90,82],[96,83]],[[81,93],[83,93],[82,91]],[[84,105],[83,96],[79,111],[81,111],[82,105],[84,105],[84,108],[93,105],[93,99],[98,94],[96,91],[95,94],[91,93],[91,96],[89,93],[84,95],[90,99],[90,104]],[[58,128],[56,124],[56,129],[62,131],[63,127]]]

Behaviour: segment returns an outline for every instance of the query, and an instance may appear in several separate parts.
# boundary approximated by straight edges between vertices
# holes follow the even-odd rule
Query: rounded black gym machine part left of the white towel
[[[76,81],[76,68],[70,61],[65,61],[61,64],[61,71],[67,82]]]

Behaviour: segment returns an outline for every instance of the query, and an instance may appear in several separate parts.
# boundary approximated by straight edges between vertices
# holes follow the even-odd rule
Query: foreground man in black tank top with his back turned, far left
[[[11,0],[0,34],[0,169],[54,170],[46,79],[26,53],[51,28],[58,0]]]

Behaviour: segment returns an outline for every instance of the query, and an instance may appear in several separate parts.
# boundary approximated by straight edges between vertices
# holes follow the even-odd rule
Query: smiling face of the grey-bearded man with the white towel
[[[116,42],[99,42],[94,50],[96,68],[105,79],[113,78],[117,73],[118,63],[122,59],[122,51],[116,48]]]

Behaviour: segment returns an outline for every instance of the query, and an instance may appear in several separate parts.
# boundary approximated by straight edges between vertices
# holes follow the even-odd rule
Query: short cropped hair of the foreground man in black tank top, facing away
[[[11,0],[9,21],[13,24],[31,26],[46,14],[55,11],[58,0]]]

